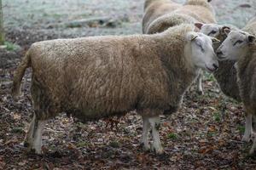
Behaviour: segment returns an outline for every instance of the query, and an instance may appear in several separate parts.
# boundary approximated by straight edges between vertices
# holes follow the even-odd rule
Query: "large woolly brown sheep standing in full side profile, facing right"
[[[197,71],[215,71],[215,38],[195,32],[194,25],[174,26],[154,35],[84,37],[35,42],[14,76],[12,95],[20,95],[26,68],[32,67],[34,114],[24,144],[41,153],[46,121],[67,112],[81,121],[143,116],[143,146],[163,153],[160,114],[177,111]]]

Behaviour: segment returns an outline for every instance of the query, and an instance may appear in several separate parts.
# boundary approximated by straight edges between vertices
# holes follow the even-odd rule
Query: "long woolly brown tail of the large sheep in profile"
[[[18,99],[20,96],[20,83],[22,80],[22,77],[25,74],[26,68],[30,67],[31,65],[31,57],[29,50],[26,52],[24,58],[21,60],[20,65],[18,65],[15,75],[14,75],[14,82],[12,87],[12,96],[15,100]]]

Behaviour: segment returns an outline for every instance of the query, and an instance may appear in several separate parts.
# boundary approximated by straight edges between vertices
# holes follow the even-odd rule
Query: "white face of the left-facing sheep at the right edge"
[[[228,37],[217,49],[219,60],[237,60],[247,54],[256,37],[245,31],[226,31]]]

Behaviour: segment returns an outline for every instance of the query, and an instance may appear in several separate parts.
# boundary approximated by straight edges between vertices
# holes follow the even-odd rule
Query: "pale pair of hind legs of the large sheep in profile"
[[[32,118],[28,132],[26,133],[24,145],[28,150],[37,154],[42,153],[42,133],[46,121],[38,120],[36,114]]]

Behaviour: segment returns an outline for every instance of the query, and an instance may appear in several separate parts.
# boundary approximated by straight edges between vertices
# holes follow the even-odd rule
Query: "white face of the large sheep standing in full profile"
[[[218,42],[214,37],[208,37],[200,32],[187,34],[185,54],[191,57],[196,68],[212,72],[218,69],[218,59],[212,48],[212,42]]]

